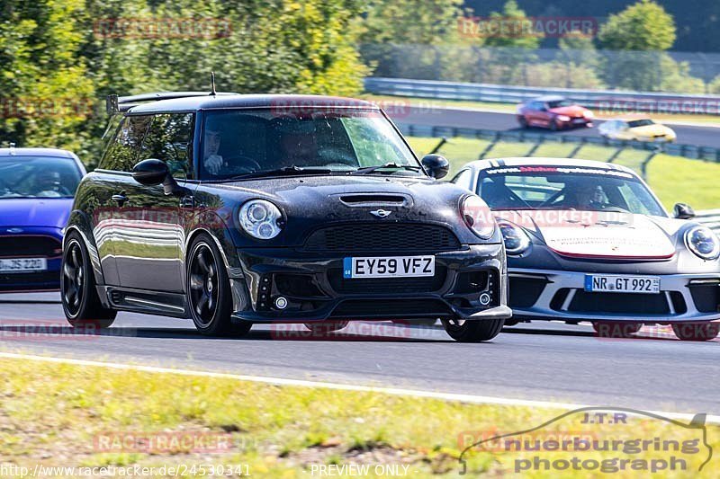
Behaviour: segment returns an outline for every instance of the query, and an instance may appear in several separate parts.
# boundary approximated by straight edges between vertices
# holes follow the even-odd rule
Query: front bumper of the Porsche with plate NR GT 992
[[[514,317],[645,324],[720,319],[720,273],[649,275],[661,278],[659,294],[586,292],[587,274],[511,268],[509,305]]]

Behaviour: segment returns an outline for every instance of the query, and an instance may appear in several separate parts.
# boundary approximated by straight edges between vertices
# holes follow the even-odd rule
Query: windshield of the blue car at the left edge
[[[0,156],[0,200],[71,198],[81,178],[69,158]]]

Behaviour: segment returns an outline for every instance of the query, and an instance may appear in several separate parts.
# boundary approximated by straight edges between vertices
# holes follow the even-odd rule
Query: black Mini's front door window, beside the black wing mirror
[[[164,161],[177,178],[191,178],[193,172],[193,113],[155,115],[142,142],[140,160]]]

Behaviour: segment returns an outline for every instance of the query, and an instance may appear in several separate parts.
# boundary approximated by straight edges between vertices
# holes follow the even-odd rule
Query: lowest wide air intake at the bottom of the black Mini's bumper
[[[453,316],[450,308],[437,299],[396,299],[396,300],[365,300],[351,299],[343,301],[332,312],[332,317],[372,317],[372,318],[404,318],[404,317],[448,317]]]

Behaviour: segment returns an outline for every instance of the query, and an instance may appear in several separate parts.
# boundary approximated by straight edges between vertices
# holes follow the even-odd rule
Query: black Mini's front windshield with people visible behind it
[[[377,174],[423,174],[418,160],[380,111],[286,109],[209,111],[202,129],[205,179],[284,172],[345,174],[378,165]]]

